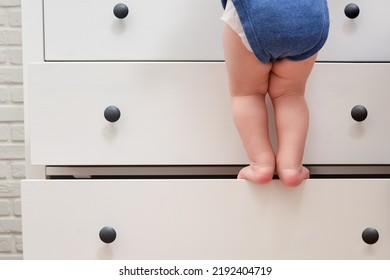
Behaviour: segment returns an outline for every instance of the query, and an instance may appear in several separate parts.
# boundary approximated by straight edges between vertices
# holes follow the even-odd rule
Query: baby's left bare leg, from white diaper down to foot
[[[272,64],[259,62],[228,25],[223,37],[233,118],[250,160],[238,178],[265,184],[275,172],[265,105]]]

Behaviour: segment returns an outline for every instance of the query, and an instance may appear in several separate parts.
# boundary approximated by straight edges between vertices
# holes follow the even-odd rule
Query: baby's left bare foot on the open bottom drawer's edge
[[[238,173],[238,179],[246,179],[256,184],[266,184],[272,180],[275,173],[274,166],[256,166],[249,165],[241,169]]]

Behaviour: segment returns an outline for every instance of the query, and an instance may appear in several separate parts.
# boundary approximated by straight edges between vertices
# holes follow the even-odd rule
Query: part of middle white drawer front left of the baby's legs
[[[33,164],[246,162],[222,63],[36,64],[29,74]]]

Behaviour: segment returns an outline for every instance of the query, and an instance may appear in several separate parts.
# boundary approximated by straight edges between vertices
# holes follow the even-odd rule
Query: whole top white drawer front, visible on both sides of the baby
[[[46,60],[223,60],[220,1],[44,1]],[[319,61],[390,61],[387,0],[328,0],[329,39]],[[348,10],[348,9],[347,9]],[[68,18],[72,20],[69,21]],[[98,47],[97,47],[98,46]]]

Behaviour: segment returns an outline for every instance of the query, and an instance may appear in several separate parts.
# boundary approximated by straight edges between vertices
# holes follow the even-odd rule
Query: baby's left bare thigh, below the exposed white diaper
[[[232,95],[266,94],[272,64],[261,63],[227,24],[224,27],[223,44]]]

